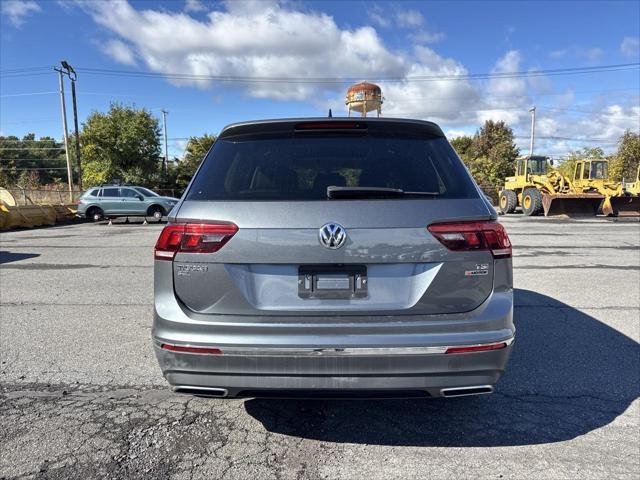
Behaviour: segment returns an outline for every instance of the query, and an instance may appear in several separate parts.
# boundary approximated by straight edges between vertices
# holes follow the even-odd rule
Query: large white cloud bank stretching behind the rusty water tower
[[[624,128],[638,125],[638,107],[634,107],[633,117],[634,110],[629,106],[638,105],[637,99],[594,106],[601,115],[563,112],[561,109],[574,105],[571,90],[549,100],[539,97],[560,93],[550,78],[465,79],[469,72],[461,62],[438,54],[423,42],[394,50],[371,26],[345,28],[327,14],[296,9],[298,4],[294,2],[227,2],[198,19],[149,4],[134,8],[123,0],[81,5],[97,24],[113,34],[107,44],[109,54],[121,63],[135,62],[141,70],[218,77],[387,78],[378,82],[386,99],[383,115],[433,120],[450,134],[474,132],[484,120],[492,119],[505,120],[518,135],[526,136],[528,109],[534,100],[540,107],[538,131],[545,136],[606,135],[615,140]],[[384,13],[376,8],[371,11]],[[393,15],[383,18],[395,21]],[[406,33],[418,35],[421,30]],[[523,63],[518,50],[509,50],[497,59],[492,71],[525,71],[529,66]],[[434,76],[463,78],[428,78]],[[223,92],[217,88],[222,80],[169,81],[211,89],[207,95],[214,98]],[[264,81],[228,86],[254,98],[304,101],[322,115],[329,107],[336,116],[346,113],[345,85],[340,83]],[[545,109],[545,105],[553,105],[556,110]],[[551,150],[557,142],[546,144],[541,140],[539,145],[536,150],[544,153],[544,148]],[[527,149],[526,139],[521,146]]]

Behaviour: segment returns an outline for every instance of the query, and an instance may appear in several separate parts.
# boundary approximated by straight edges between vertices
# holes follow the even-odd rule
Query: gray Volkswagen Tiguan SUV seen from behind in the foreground
[[[162,372],[217,397],[490,393],[515,332],[496,218],[433,123],[228,126],[155,247]]]

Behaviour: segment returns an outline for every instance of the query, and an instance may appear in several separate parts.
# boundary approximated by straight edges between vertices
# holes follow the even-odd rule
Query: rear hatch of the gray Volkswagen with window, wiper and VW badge
[[[216,315],[465,312],[492,291],[494,215],[433,124],[232,126],[171,218],[175,293]]]

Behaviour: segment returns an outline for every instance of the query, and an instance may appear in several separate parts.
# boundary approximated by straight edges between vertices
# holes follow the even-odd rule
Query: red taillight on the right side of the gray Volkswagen
[[[427,229],[449,250],[489,250],[493,258],[511,257],[511,241],[498,222],[436,223]]]

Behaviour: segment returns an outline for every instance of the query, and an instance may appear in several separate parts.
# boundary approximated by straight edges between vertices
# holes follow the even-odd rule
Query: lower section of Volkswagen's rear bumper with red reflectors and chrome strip
[[[494,351],[446,355],[404,355],[391,350],[358,356],[197,355],[155,347],[167,381],[177,391],[187,393],[219,397],[385,397],[424,392],[424,396],[439,397],[444,389],[457,387],[483,386],[487,389],[480,393],[489,393],[504,371],[511,345]]]

